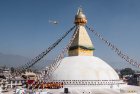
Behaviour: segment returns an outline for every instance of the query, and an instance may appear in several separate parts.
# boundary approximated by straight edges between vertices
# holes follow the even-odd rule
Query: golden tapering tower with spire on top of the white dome
[[[77,34],[69,48],[69,56],[92,56],[94,47],[85,29],[87,19],[81,8],[78,9],[74,23],[76,24],[75,32],[77,31]]]

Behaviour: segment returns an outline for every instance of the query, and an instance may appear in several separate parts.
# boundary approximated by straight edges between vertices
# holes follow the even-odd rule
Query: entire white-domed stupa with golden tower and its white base
[[[93,55],[95,48],[85,29],[87,19],[79,8],[75,16],[76,37],[68,57],[60,60],[53,72],[53,82],[62,82],[61,89],[50,89],[53,94],[140,94],[140,87],[127,85],[105,61]]]

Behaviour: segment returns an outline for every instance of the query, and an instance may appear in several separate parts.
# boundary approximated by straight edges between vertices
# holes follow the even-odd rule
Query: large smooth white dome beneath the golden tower
[[[60,62],[53,80],[119,80],[115,70],[95,56],[71,56]]]

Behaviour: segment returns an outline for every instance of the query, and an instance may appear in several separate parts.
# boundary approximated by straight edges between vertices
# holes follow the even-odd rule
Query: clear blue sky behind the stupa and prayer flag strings
[[[0,52],[29,58],[38,55],[74,25],[79,6],[89,26],[140,61],[140,0],[0,0]],[[57,20],[59,24],[50,24],[48,20]],[[112,66],[128,66],[88,32],[96,56]],[[57,49],[65,46],[67,40]]]

